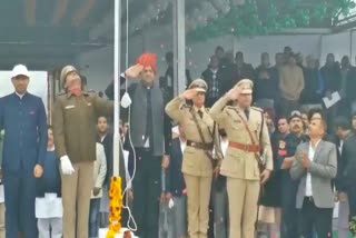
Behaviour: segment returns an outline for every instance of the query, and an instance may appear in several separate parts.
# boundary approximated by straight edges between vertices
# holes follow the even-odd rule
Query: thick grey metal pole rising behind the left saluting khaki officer
[[[186,1],[174,0],[174,86],[175,96],[186,89]]]

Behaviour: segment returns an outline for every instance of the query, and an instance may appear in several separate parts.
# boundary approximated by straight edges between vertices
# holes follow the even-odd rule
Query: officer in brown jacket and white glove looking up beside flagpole
[[[90,195],[96,160],[96,120],[112,115],[113,103],[82,91],[78,70],[66,66],[60,75],[66,90],[53,107],[53,136],[62,179],[63,237],[88,238]]]

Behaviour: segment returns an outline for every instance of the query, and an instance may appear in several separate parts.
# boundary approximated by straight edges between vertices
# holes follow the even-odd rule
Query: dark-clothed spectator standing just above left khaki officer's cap
[[[201,79],[208,85],[206,106],[211,107],[221,97],[222,75],[219,68],[219,60],[216,56],[210,57],[208,69],[201,73]]]

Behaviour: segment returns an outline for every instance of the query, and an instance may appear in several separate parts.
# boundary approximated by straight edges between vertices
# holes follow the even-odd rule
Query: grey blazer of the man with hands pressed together
[[[309,142],[297,147],[295,160],[290,169],[293,179],[300,179],[296,207],[300,209],[306,191],[307,172],[312,175],[312,190],[315,206],[318,208],[334,207],[334,192],[332,189],[332,179],[336,177],[337,156],[336,146],[332,142],[322,140],[316,147],[314,159],[308,170],[301,166],[303,152],[309,151]]]

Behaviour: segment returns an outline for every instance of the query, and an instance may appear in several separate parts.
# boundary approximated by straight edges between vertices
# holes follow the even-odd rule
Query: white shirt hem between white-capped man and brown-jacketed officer
[[[62,198],[57,194],[44,194],[44,198],[36,198],[36,218],[61,218],[63,216]]]

